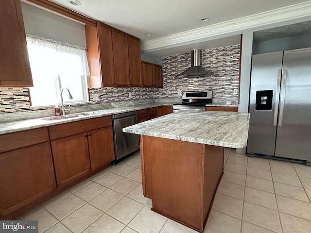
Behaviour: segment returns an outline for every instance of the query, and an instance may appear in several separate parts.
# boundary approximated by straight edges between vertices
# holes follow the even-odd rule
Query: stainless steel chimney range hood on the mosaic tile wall
[[[182,78],[198,78],[212,76],[200,63],[201,50],[191,50],[191,67],[186,69],[175,77],[175,79]]]

